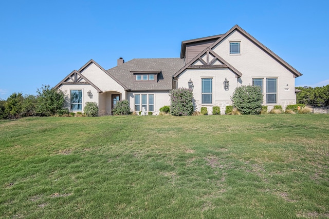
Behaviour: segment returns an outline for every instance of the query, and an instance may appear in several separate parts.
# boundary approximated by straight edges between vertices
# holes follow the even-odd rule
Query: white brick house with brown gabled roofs
[[[236,87],[260,86],[263,105],[285,108],[296,104],[295,77],[302,74],[241,27],[225,34],[181,43],[179,58],[135,58],[105,70],[93,59],[68,74],[55,88],[62,90],[70,111],[83,111],[96,102],[99,114],[111,114],[116,102],[127,99],[132,111],[158,114],[170,105],[169,92],[180,87],[193,90],[195,110],[231,105]]]

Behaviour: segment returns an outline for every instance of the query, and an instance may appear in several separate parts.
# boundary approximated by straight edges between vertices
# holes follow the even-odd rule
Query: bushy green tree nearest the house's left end
[[[42,88],[38,88],[36,93],[38,93],[36,113],[45,116],[68,113],[68,110],[64,109],[65,95],[63,91],[44,85]]]

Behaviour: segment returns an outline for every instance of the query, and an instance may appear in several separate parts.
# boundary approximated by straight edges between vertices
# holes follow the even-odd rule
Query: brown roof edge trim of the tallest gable
[[[286,69],[288,69],[291,73],[293,73],[296,77],[301,76],[302,74],[297,71],[295,68],[290,66],[288,63],[286,63],[282,58],[280,58],[277,54],[275,54],[273,51],[268,49],[266,46],[264,46],[262,43],[260,43],[257,39],[255,39],[253,36],[251,36],[249,33],[247,33],[244,29],[242,29],[240,26],[235,25],[232,27],[229,31],[227,31],[222,37],[218,38],[216,42],[214,42],[209,48],[213,49],[216,45],[221,43],[225,40],[225,38],[230,35],[233,31],[239,31],[241,34],[243,34],[245,37],[247,37],[252,43],[254,43],[256,46],[258,46],[260,49],[262,49],[264,52],[266,52],[268,55],[270,55],[272,58],[274,58],[277,62],[279,62],[281,65],[283,65]]]

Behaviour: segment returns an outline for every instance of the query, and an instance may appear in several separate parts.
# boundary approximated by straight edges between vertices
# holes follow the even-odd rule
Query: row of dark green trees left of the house
[[[64,108],[65,95],[62,91],[44,85],[36,90],[37,95],[13,93],[7,100],[0,99],[0,119],[13,119],[25,116],[52,116],[67,114]]]

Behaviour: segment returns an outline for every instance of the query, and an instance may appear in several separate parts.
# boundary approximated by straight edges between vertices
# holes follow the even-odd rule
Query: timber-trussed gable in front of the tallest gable
[[[188,64],[177,71],[173,77],[177,77],[180,73],[189,68],[228,68],[236,74],[237,77],[242,76],[240,71],[231,66],[224,58],[212,51],[209,47],[195,56]]]

